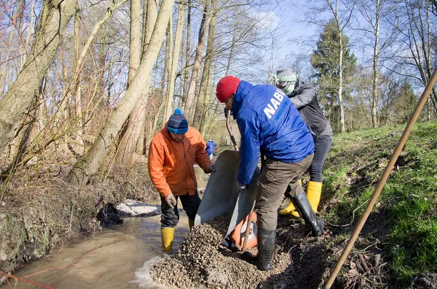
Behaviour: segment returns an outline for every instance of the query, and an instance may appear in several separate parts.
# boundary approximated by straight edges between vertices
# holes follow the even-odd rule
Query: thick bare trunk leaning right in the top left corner
[[[41,21],[23,69],[0,100],[0,151],[18,133],[21,120],[34,101],[76,6],[77,0],[64,0],[58,4],[51,2],[44,8],[47,16]]]

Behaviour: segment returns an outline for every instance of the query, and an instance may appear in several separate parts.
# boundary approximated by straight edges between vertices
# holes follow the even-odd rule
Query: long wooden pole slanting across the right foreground
[[[370,197],[369,203],[367,203],[367,207],[363,213],[363,215],[360,217],[360,220],[358,221],[358,224],[356,224],[355,229],[353,229],[353,232],[351,234],[351,238],[349,239],[348,243],[346,244],[346,248],[344,248],[343,253],[341,253],[340,259],[337,261],[337,264],[335,265],[334,269],[331,272],[330,278],[325,283],[325,286],[323,288],[329,289],[332,286],[332,283],[334,283],[335,278],[337,278],[337,274],[339,274],[339,271],[341,267],[343,266],[344,261],[346,260],[346,257],[348,257],[349,252],[351,252],[351,249],[353,247],[353,243],[355,243],[356,239],[358,238],[358,234],[360,234],[361,229],[363,229],[363,226],[367,220],[367,217],[369,217],[370,212],[372,211],[372,208],[374,204],[377,202],[378,196],[382,191],[382,188],[384,187],[384,184],[386,184],[387,179],[389,178],[391,169],[393,168],[394,164],[398,160],[399,154],[403,149],[403,146],[405,145],[405,142],[407,142],[408,137],[410,136],[412,127],[415,125],[417,119],[419,118],[420,112],[422,112],[422,109],[424,108],[424,105],[426,103],[426,100],[429,98],[429,94],[431,93],[431,90],[433,86],[436,84],[437,81],[437,68],[434,69],[433,74],[431,75],[431,78],[428,81],[428,84],[426,85],[426,88],[424,89],[424,92],[422,93],[422,96],[419,99],[419,102],[417,102],[417,106],[415,108],[415,112],[413,112],[410,121],[408,121],[407,126],[405,127],[402,135],[400,136],[400,140],[398,142],[398,145],[396,146],[395,151],[391,155],[390,161],[387,164],[386,168],[384,169],[384,173],[382,174],[381,178],[379,179],[379,182],[377,184],[377,187],[374,189],[372,196]]]

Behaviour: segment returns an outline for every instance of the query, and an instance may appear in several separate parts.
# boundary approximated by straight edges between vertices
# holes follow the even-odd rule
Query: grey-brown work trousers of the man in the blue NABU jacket
[[[302,175],[311,165],[314,154],[298,163],[282,163],[266,159],[257,181],[256,217],[258,227],[267,231],[275,230],[278,222],[278,207],[282,196],[292,198],[304,193],[299,184]]]

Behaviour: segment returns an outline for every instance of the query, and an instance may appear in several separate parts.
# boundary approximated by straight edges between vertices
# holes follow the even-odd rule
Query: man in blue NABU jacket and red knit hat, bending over
[[[244,193],[252,180],[260,152],[266,156],[256,196],[258,255],[247,256],[258,269],[271,269],[280,199],[285,193],[300,211],[313,236],[323,233],[299,184],[313,160],[314,142],[296,107],[274,86],[254,86],[235,76],[218,81],[216,97],[232,109],[241,134],[237,190]]]

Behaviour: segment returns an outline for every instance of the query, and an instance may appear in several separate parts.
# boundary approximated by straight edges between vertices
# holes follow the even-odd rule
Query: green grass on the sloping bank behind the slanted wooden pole
[[[328,222],[347,223],[366,201],[405,126],[365,129],[334,136],[324,170],[323,200]],[[389,223],[383,250],[400,286],[437,268],[437,123],[415,126],[379,196]]]

